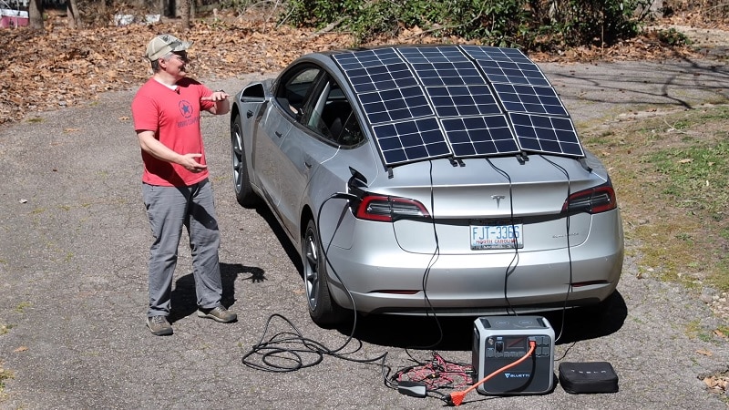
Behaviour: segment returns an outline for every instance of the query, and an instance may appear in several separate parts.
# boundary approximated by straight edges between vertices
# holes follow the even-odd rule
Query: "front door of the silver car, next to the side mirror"
[[[282,75],[272,102],[259,123],[259,138],[253,148],[253,167],[272,210],[281,214],[283,182],[288,176],[280,164],[285,161],[282,142],[302,118],[306,98],[311,94],[320,69],[311,65],[292,67]]]

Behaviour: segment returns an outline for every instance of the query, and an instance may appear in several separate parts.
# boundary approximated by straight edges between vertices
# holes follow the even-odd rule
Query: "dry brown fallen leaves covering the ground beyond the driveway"
[[[151,37],[161,33],[173,33],[194,43],[190,74],[196,78],[274,74],[296,56],[354,44],[346,33],[276,26],[267,17],[227,16],[211,22],[197,19],[188,32],[182,32],[175,20],[69,29],[65,16],[49,17],[42,33],[29,27],[3,29],[0,124],[25,118],[29,111],[72,107],[96,99],[99,93],[139,87],[151,74],[145,47]],[[430,36],[428,31],[413,27],[396,38],[378,38],[368,45],[443,42],[463,40]],[[664,46],[648,33],[612,47],[579,47],[530,56],[536,61],[585,62],[688,54],[688,48]]]

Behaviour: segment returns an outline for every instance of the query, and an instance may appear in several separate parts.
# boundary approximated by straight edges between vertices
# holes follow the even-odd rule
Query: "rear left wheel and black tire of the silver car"
[[[303,284],[313,322],[323,327],[342,323],[345,311],[334,302],[329,292],[326,261],[313,220],[306,224],[302,247]]]

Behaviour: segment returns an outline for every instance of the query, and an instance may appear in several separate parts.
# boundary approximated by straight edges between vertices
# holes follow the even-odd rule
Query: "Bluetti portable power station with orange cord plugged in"
[[[541,316],[485,316],[473,329],[475,380],[496,372],[529,353],[524,362],[495,374],[477,386],[481,395],[541,395],[549,393],[554,381],[554,330]]]

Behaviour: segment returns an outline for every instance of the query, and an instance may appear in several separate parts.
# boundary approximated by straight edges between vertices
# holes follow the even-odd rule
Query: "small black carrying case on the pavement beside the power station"
[[[560,363],[560,384],[573,395],[581,393],[615,393],[618,374],[607,362]]]

